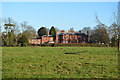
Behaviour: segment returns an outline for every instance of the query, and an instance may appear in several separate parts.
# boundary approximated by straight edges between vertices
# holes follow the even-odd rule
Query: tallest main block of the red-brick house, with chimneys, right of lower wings
[[[58,36],[58,43],[87,43],[88,35],[85,33],[69,30],[68,33],[62,30],[61,34]]]

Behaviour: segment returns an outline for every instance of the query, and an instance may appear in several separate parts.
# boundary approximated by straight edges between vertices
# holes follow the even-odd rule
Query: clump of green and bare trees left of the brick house
[[[36,30],[25,21],[18,24],[13,19],[7,18],[1,22],[1,46],[27,46],[28,39],[36,35]]]

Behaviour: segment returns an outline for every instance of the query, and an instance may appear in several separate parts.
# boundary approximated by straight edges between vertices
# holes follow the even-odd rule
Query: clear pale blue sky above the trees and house
[[[95,15],[106,25],[111,24],[117,2],[2,2],[2,17],[18,23],[27,21],[36,30],[40,27],[60,30],[97,25]]]

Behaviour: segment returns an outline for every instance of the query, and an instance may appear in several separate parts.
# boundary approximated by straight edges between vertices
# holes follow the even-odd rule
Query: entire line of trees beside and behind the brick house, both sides
[[[88,42],[96,44],[105,44],[107,46],[116,47],[118,46],[119,32],[120,28],[117,23],[113,23],[110,26],[103,24],[96,16],[97,25],[91,29],[91,27],[84,27],[80,30],[82,33],[88,34]],[[2,33],[2,43],[1,46],[27,46],[30,45],[28,40],[32,37],[41,37],[43,35],[55,35],[59,33],[59,29],[54,26],[51,29],[46,27],[40,27],[37,31],[27,22],[22,22],[20,24],[16,23],[13,19],[3,19],[1,25]],[[74,28],[70,28],[74,30]],[[36,33],[38,35],[36,35]]]

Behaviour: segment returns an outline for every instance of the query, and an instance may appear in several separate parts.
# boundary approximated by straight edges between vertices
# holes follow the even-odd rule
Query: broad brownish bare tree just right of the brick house
[[[96,16],[96,22],[98,25],[92,32],[92,42],[108,44],[109,34],[107,32],[107,26],[99,20],[98,16]]]

